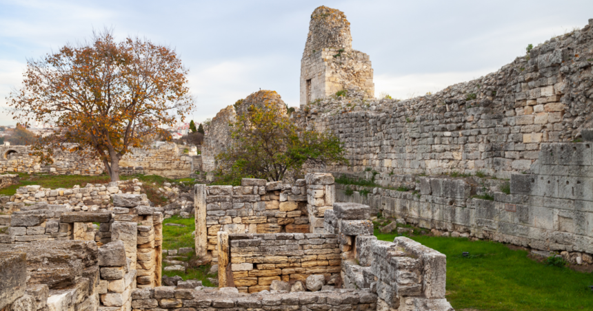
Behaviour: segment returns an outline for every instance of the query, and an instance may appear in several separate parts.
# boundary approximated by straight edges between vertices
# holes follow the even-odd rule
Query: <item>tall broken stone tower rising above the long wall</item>
[[[311,14],[301,59],[301,107],[347,87],[374,97],[369,56],[352,50],[350,22],[340,10],[320,6]]]

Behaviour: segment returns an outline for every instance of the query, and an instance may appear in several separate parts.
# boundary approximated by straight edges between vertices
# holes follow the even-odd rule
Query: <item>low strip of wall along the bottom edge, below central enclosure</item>
[[[376,310],[376,295],[365,290],[241,294],[162,286],[132,292],[134,310]]]

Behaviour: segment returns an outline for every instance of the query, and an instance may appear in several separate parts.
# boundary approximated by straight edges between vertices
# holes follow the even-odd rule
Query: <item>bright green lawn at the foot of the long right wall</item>
[[[393,241],[396,234],[375,234]],[[455,237],[411,237],[447,255],[447,299],[463,310],[593,310],[591,274],[546,266],[525,250]],[[469,252],[463,257],[462,252]]]

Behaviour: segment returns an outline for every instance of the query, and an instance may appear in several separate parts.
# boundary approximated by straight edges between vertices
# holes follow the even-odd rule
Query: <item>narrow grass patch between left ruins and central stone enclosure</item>
[[[185,227],[178,227],[178,226],[164,226],[164,224],[183,224]],[[195,230],[195,219],[194,218],[180,218],[177,215],[173,217],[167,218],[163,221],[163,249],[170,250],[170,249],[179,249],[181,247],[194,247],[194,237],[192,237],[192,232]],[[180,261],[190,261],[194,257],[194,254],[190,255],[180,255],[177,257],[177,260]],[[168,266],[163,262],[163,268]],[[208,270],[210,270],[210,265],[199,266],[194,268],[187,268],[185,273],[179,271],[165,271],[163,269],[163,275],[168,277],[174,277],[179,275],[183,279],[183,281],[188,279],[197,279],[202,281],[204,286],[214,286],[210,281],[208,281],[208,277],[214,277],[215,275],[208,275]]]

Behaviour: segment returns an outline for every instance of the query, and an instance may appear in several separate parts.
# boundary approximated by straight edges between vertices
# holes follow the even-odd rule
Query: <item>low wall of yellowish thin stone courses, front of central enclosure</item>
[[[272,281],[305,281],[310,275],[326,279],[339,277],[340,248],[336,235],[278,233],[229,235],[230,271],[219,259],[219,284],[237,287],[239,292],[270,290]],[[228,279],[227,279],[228,277]],[[335,281],[334,281],[335,283]]]

